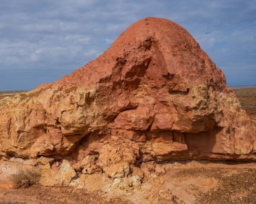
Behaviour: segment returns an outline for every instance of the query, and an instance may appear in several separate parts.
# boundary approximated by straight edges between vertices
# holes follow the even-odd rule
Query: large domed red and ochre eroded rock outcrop
[[[122,178],[150,161],[256,160],[256,134],[193,37],[146,18],[69,76],[0,100],[0,151]]]

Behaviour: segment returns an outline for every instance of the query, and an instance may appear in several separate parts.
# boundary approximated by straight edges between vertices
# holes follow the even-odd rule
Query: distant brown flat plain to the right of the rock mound
[[[256,88],[233,88],[241,106],[256,125]]]

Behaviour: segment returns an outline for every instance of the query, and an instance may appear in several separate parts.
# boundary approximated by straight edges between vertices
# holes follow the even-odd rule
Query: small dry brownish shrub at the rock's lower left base
[[[28,188],[40,180],[40,174],[36,170],[20,170],[11,176],[16,188]]]

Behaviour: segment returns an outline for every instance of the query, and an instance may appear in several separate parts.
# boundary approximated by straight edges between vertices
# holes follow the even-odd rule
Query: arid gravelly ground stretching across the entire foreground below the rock
[[[146,182],[141,189],[123,197],[103,192],[32,186],[1,189],[1,203],[255,203],[256,165],[230,162],[173,162],[154,188]],[[143,195],[143,196],[142,196]],[[146,196],[145,196],[146,195]],[[170,199],[171,198],[171,199]]]

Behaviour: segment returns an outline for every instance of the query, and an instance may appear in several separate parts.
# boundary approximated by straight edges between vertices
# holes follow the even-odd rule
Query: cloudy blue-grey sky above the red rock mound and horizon
[[[148,16],[187,29],[228,86],[256,84],[256,0],[0,0],[0,91],[61,79]]]

